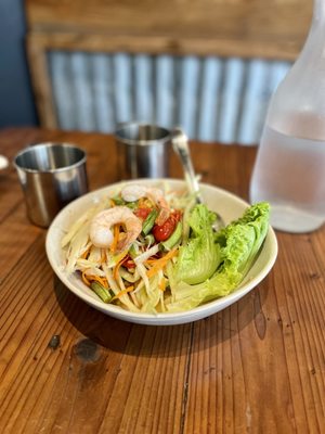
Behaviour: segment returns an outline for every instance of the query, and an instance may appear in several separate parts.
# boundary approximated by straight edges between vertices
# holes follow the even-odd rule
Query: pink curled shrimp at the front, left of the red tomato
[[[126,237],[118,242],[117,251],[121,252],[130,246],[142,230],[142,222],[127,206],[115,206],[96,214],[90,224],[90,240],[96,247],[106,248],[113,243],[114,235],[110,228],[121,224],[126,229]]]

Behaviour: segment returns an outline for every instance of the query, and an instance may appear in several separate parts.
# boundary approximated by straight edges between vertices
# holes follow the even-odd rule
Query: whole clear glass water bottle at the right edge
[[[325,221],[325,0],[314,0],[304,47],[273,94],[250,181],[271,225],[310,232]]]

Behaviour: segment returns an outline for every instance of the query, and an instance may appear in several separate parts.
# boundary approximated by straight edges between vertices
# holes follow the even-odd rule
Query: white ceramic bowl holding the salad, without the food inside
[[[140,182],[140,181],[132,181]],[[159,184],[168,182],[174,189],[184,189],[185,183],[181,180],[141,180],[146,184]],[[270,227],[269,233],[262,246],[262,250],[246,276],[242,284],[230,295],[218,298],[203,306],[196,307],[192,310],[172,314],[134,314],[127,311],[118,306],[104,304],[98,296],[81,281],[80,277],[75,275],[67,276],[64,271],[63,252],[61,248],[61,239],[66,233],[70,225],[90,206],[100,201],[103,195],[114,195],[120,190],[121,183],[115,183],[103,189],[93,191],[77,199],[63,208],[53,220],[47,234],[47,255],[49,261],[57,275],[60,280],[79,298],[88,303],[102,312],[125,321],[152,324],[152,326],[167,326],[167,324],[181,324],[185,322],[196,321],[198,319],[208,317],[225,307],[232,305],[242,298],[245,294],[251,291],[262,279],[269,273],[277,255],[277,242],[273,229]],[[203,197],[210,209],[218,212],[224,221],[230,221],[240,217],[248,204],[236,195],[226,192],[225,190],[209,186],[202,184]]]

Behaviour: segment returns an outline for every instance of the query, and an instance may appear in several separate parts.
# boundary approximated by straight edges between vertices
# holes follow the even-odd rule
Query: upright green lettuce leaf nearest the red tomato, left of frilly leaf
[[[220,246],[214,242],[211,224],[214,213],[206,205],[195,205],[188,217],[190,238],[180,247],[173,270],[173,279],[190,284],[202,283],[210,278],[220,264]]]

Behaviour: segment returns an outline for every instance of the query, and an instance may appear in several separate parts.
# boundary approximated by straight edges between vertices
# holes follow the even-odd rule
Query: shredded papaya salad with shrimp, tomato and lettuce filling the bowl
[[[126,183],[63,237],[65,270],[129,311],[193,309],[238,286],[265,239],[269,213],[268,203],[251,205],[214,232],[216,213],[187,190]]]

